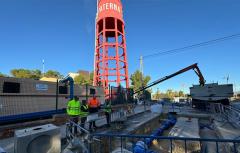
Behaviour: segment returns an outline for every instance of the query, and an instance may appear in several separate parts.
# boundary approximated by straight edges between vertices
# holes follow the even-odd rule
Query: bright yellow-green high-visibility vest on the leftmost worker
[[[80,114],[80,102],[71,100],[67,105],[67,114],[70,116],[77,116]]]

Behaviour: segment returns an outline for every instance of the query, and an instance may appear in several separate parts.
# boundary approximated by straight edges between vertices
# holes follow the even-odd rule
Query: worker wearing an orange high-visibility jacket
[[[100,102],[95,95],[88,102],[89,113],[94,114],[97,113],[100,108]],[[95,120],[90,121],[89,123],[89,131],[92,131],[93,128],[97,128]]]

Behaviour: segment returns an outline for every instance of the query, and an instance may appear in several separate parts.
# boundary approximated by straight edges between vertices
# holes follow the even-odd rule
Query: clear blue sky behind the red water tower
[[[122,0],[129,72],[139,57],[240,33],[239,0]],[[93,70],[95,0],[0,0],[0,72],[46,69],[63,74]],[[240,90],[240,38],[144,60],[153,80],[195,62],[207,82]],[[198,83],[193,71],[156,86],[184,89]]]

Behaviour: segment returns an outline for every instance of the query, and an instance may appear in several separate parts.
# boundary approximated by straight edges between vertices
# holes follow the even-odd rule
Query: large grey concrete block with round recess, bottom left
[[[47,124],[15,131],[15,153],[60,153],[60,128]]]

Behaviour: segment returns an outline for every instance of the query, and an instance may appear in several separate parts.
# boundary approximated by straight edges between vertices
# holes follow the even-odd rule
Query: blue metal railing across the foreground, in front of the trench
[[[168,150],[165,152],[174,153],[176,149],[177,153],[188,153],[190,151],[190,143],[198,143],[199,149],[195,150],[200,153],[207,152],[216,152],[216,153],[239,153],[240,152],[240,140],[229,140],[229,139],[202,139],[202,138],[181,138],[181,137],[154,137],[154,136],[145,136],[145,135],[120,135],[120,134],[92,134],[91,138],[97,138],[100,140],[97,144],[90,144],[90,153],[105,153],[105,152],[114,152],[116,148],[118,152],[126,153],[133,152],[137,153],[134,148],[135,144],[139,141],[146,142],[148,139],[154,139],[157,141],[168,141]],[[179,150],[176,147],[175,142],[181,142],[183,150]],[[129,147],[129,143],[131,143],[131,147]],[[212,143],[215,144],[215,150],[207,151],[204,144]],[[179,144],[179,143],[178,143]],[[230,148],[226,150],[225,145],[229,145]],[[223,147],[224,146],[224,147]],[[144,145],[143,153],[148,153],[151,150],[151,146]],[[163,151],[164,152],[164,151]]]

